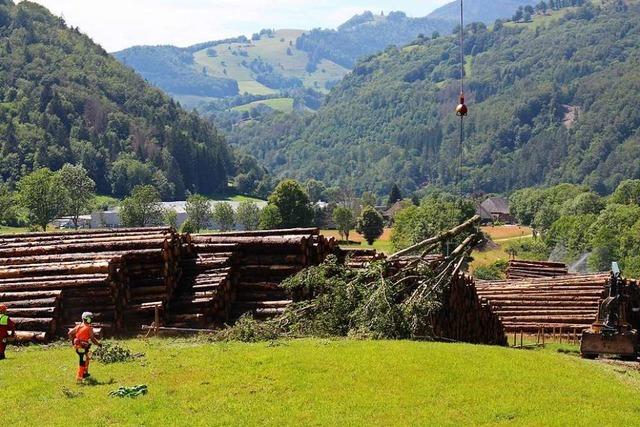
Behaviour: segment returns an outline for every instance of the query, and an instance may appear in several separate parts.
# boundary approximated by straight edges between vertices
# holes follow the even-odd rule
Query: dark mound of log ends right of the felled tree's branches
[[[502,321],[478,298],[472,278],[463,274],[452,278],[443,301],[431,319],[436,336],[473,344],[507,345]]]

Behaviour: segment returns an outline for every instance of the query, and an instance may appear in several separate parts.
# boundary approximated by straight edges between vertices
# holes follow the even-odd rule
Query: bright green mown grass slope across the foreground
[[[553,350],[408,341],[132,340],[135,362],[74,384],[68,346],[9,350],[6,425],[636,425],[635,367]],[[109,397],[146,384],[136,399]],[[80,393],[77,397],[67,395]],[[69,391],[71,393],[69,393]]]

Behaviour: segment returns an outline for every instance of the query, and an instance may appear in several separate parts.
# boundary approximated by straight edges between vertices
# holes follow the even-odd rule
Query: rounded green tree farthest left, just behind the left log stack
[[[47,224],[65,208],[66,192],[60,175],[48,168],[38,169],[18,182],[18,202],[27,210],[29,222],[47,230]]]

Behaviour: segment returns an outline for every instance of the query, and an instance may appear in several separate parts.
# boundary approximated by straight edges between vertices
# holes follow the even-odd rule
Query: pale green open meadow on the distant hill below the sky
[[[255,80],[255,74],[242,64],[243,61],[250,63],[254,59],[262,58],[273,67],[275,72],[286,77],[297,77],[302,80],[305,87],[326,92],[325,83],[342,79],[349,70],[331,61],[322,60],[315,72],[308,73],[305,69],[308,62],[307,53],[295,48],[296,39],[302,33],[302,30],[278,30],[274,37],[263,36],[261,40],[250,44],[221,44],[214,48],[217,56],[213,58],[209,57],[207,49],[204,49],[194,54],[194,67],[198,71],[206,68],[207,73],[212,76],[237,80],[240,93],[247,92],[254,95],[277,93],[277,90],[258,83]],[[288,48],[291,49],[291,55],[287,54]]]

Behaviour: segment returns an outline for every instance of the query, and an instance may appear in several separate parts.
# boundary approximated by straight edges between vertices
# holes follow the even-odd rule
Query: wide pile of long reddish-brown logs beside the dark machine
[[[575,275],[478,282],[482,301],[504,323],[509,332],[537,333],[560,330],[577,332],[588,328],[604,297],[608,274]]]

